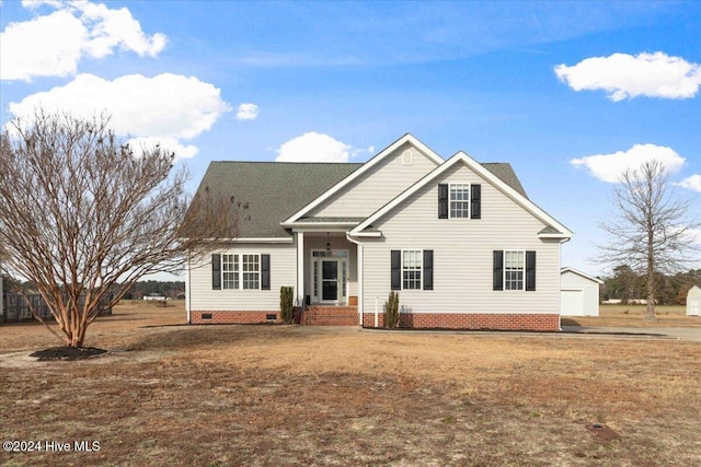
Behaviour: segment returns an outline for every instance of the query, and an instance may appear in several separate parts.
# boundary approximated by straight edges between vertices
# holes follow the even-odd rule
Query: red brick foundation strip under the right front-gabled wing
[[[363,326],[375,327],[375,313],[363,314]],[[384,314],[378,314],[378,327],[384,327]],[[405,313],[400,314],[400,328],[409,329],[498,329],[498,330],[560,330],[556,314],[461,314]]]

